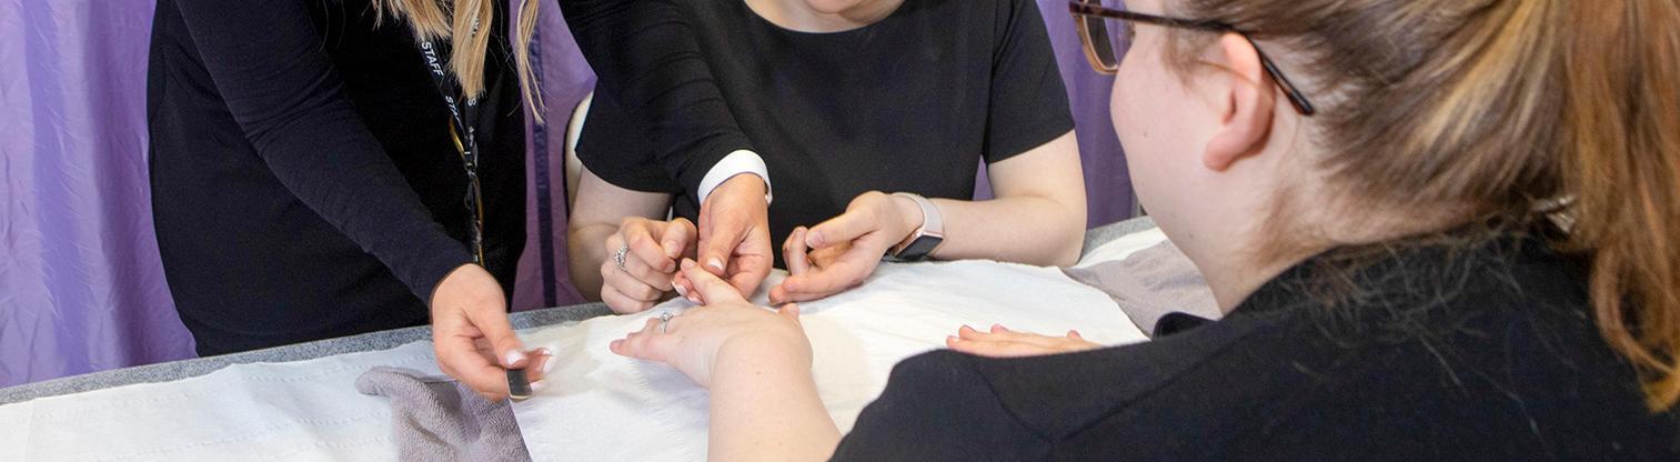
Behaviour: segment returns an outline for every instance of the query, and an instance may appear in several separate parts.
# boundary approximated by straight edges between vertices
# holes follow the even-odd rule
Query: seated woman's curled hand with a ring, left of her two
[[[613,257],[625,244],[625,265],[618,269]],[[601,262],[601,301],[613,312],[642,312],[664,301],[674,289],[677,259],[692,254],[696,245],[694,223],[687,218],[655,222],[628,217],[618,232],[606,237],[606,260]]]

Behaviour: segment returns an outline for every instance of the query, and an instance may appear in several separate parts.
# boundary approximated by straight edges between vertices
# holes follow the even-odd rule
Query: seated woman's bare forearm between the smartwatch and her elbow
[[[944,218],[944,244],[934,250],[934,259],[1070,265],[1084,247],[1084,203],[1048,197],[932,202]],[[911,217],[919,218],[921,213]]]

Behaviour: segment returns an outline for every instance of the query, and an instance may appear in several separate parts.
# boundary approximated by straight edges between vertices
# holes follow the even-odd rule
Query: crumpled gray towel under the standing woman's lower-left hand
[[[507,400],[486,402],[454,380],[373,368],[356,391],[391,398],[398,460],[531,460]]]

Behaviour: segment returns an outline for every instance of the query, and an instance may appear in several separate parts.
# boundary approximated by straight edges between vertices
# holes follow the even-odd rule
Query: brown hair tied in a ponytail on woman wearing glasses
[[[1436,230],[1567,217],[1604,339],[1651,410],[1680,402],[1680,3],[1178,3],[1292,52],[1346,208],[1455,210]]]

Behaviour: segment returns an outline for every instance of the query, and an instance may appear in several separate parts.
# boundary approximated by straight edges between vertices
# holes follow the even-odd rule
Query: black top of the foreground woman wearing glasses
[[[1320,291],[1309,260],[1156,341],[894,368],[837,460],[1677,460],[1599,336],[1584,269],[1537,239],[1401,250]],[[1309,294],[1361,294],[1327,307]]]

